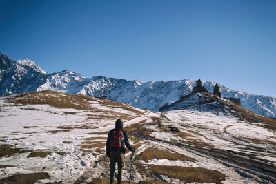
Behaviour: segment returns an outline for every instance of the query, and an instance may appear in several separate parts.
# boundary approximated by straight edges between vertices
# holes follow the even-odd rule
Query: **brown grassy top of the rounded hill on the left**
[[[62,92],[42,91],[26,92],[4,97],[4,100],[14,105],[51,105],[59,109],[75,109],[86,111],[86,114],[78,112],[63,112],[66,114],[76,114],[87,116],[88,119],[116,119],[119,117],[123,121],[129,121],[137,116],[147,113],[146,110],[137,110],[136,108],[110,101],[108,99],[97,99],[91,96],[80,94],[66,94]],[[99,108],[98,108],[99,107]],[[28,110],[39,110],[28,108]],[[55,113],[55,112],[52,112]],[[83,128],[83,127],[80,127]]]

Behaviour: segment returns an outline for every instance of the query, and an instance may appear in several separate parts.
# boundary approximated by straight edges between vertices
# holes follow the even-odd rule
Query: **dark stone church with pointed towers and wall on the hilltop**
[[[193,88],[193,91],[191,93],[194,94],[197,92],[208,92],[208,90],[206,90],[206,88],[202,85],[202,81],[200,79],[197,80],[197,85]],[[217,83],[214,86],[213,94],[215,94],[219,97],[222,97],[221,92],[219,90],[219,85]],[[225,98],[225,99],[228,99],[228,100],[232,101],[233,103],[236,103],[237,105],[241,105],[240,99],[237,99],[237,98]]]

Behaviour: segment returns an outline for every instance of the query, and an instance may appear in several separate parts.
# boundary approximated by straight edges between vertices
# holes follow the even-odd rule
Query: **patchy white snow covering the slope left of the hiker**
[[[51,152],[45,157],[29,157],[30,152],[14,154],[10,157],[0,158],[1,165],[13,165],[0,169],[0,178],[14,174],[27,174],[32,172],[48,172],[50,180],[41,182],[62,181],[73,183],[90,163],[95,161],[99,154],[88,152],[83,154],[81,145],[87,138],[99,137],[93,141],[106,142],[103,139],[107,134],[91,134],[92,132],[107,132],[115,127],[119,116],[108,116],[108,119],[95,119],[88,114],[103,114],[115,112],[135,117],[137,114],[114,108],[110,105],[99,105],[90,101],[91,107],[101,110],[59,109],[51,105],[20,105],[7,103],[0,99],[0,139],[1,144],[15,145],[15,147]],[[140,110],[143,112],[142,110]],[[144,111],[145,112],[145,111]],[[137,121],[133,121],[137,122]],[[138,119],[139,122],[139,119]],[[129,122],[131,123],[131,121]],[[129,124],[128,123],[128,124]],[[96,148],[96,147],[95,147]],[[59,152],[65,152],[58,154]]]

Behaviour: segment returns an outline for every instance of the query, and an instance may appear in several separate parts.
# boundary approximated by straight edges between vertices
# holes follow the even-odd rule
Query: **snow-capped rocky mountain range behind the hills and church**
[[[86,78],[64,70],[47,74],[29,59],[12,61],[0,54],[0,96],[21,92],[53,90],[70,94],[104,97],[137,108],[158,111],[166,103],[178,101],[190,94],[195,86],[190,79],[177,81],[126,81],[124,79],[95,76]],[[215,82],[203,81],[204,87],[213,92]],[[276,98],[230,90],[219,85],[222,96],[239,98],[241,105],[250,111],[276,118]]]

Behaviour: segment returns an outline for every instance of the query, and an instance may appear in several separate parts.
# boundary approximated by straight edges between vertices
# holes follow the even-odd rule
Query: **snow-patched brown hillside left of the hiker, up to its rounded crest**
[[[130,121],[149,113],[107,99],[50,91],[6,96],[0,106],[0,178],[48,173],[51,181],[69,183],[105,152],[107,131],[117,118]]]

